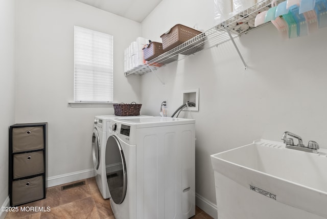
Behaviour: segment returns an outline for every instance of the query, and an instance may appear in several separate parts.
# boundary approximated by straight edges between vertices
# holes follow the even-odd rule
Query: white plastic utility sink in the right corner
[[[225,200],[222,200],[219,195],[223,196],[226,189],[230,190],[229,194],[232,192],[235,195],[242,194],[241,188],[246,188],[244,194],[254,195],[250,202],[255,203],[261,200],[258,202],[258,205],[261,205],[267,200],[270,208],[275,208],[272,212],[278,213],[277,211],[281,208],[283,211],[287,209],[281,204],[292,206],[289,207],[290,210],[285,210],[288,216],[276,217],[275,214],[271,218],[327,218],[326,149],[319,149],[318,154],[313,154],[285,148],[282,142],[256,140],[252,144],[212,155],[211,160],[215,171],[218,214],[220,209],[224,211],[226,208],[226,206],[224,209],[220,208],[219,204],[224,205]],[[225,178],[230,182],[224,181]],[[222,185],[223,183],[225,184]],[[237,186],[237,190],[241,192],[235,192],[236,188],[231,188],[230,185]],[[226,199],[231,199],[230,195]],[[245,200],[249,202],[248,197]],[[231,203],[238,201],[240,201],[239,197]],[[240,204],[239,208],[242,208],[241,202],[237,203]],[[251,205],[247,206],[247,208],[250,207]],[[253,206],[253,208],[256,211],[259,207]],[[297,212],[294,208],[299,211]],[[246,218],[244,216],[246,212],[241,211],[242,209],[239,215]],[[264,211],[263,214],[265,214]],[[299,217],[290,217],[295,214]],[[222,213],[222,215],[228,215],[228,213]],[[258,215],[256,215],[257,218]],[[301,215],[304,216],[300,217]],[[262,218],[270,218],[266,215],[262,216]],[[238,218],[230,214],[226,216],[228,217]]]

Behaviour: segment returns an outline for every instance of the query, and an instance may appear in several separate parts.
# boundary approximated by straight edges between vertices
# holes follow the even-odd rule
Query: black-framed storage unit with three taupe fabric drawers
[[[10,206],[45,199],[47,123],[9,128]]]

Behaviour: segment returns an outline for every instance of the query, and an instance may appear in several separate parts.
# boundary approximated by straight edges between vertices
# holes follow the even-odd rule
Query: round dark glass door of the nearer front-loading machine
[[[126,195],[127,172],[124,152],[118,139],[109,136],[106,145],[106,173],[111,199],[121,204]]]

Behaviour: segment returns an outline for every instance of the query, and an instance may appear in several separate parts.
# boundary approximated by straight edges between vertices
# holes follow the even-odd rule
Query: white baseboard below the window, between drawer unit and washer
[[[70,172],[55,177],[48,177],[47,187],[58,186],[65,183],[70,183],[78,180],[84,180],[87,178],[95,177],[96,173],[94,169],[86,169],[77,172]]]

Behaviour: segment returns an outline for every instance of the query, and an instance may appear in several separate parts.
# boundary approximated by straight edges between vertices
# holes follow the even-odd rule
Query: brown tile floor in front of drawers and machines
[[[68,183],[71,184],[71,183]],[[66,185],[66,184],[63,184]],[[110,201],[102,198],[95,178],[85,179],[85,185],[61,191],[61,186],[47,189],[46,199],[18,206],[18,212],[8,212],[7,218],[107,218],[114,219]],[[25,211],[20,211],[24,209]],[[33,211],[32,207],[36,208]],[[44,207],[44,208],[42,208]],[[47,212],[48,207],[50,211]],[[212,218],[196,207],[192,219]]]

